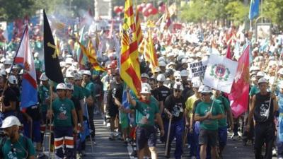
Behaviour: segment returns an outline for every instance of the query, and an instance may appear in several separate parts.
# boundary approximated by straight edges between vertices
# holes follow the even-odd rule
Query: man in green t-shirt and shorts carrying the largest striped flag
[[[151,158],[157,158],[156,152],[156,129],[155,119],[161,129],[161,136],[164,134],[163,122],[161,114],[158,108],[158,102],[151,97],[151,87],[148,83],[141,83],[141,95],[139,99],[132,99],[129,94],[129,88],[127,88],[127,99],[131,104],[131,107],[136,110],[137,114],[137,130],[136,141],[137,150],[139,151],[139,158],[144,158],[144,150],[146,143],[148,143],[149,151],[151,152]]]

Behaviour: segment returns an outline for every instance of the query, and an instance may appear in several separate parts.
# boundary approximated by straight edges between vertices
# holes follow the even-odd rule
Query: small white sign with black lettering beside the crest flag
[[[190,68],[189,71],[192,77],[204,76],[205,69],[207,69],[207,62],[208,60],[206,59],[189,64],[189,68]]]

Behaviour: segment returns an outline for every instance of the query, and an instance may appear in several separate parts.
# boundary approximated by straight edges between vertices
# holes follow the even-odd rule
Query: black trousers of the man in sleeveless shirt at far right
[[[255,124],[255,159],[262,159],[262,146],[265,143],[265,159],[272,158],[272,146],[275,140],[275,124],[273,122]]]

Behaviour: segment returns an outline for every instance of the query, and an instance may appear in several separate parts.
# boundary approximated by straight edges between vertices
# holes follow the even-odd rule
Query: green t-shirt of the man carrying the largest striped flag
[[[151,96],[149,104],[136,100],[136,121],[139,126],[154,126],[154,117],[159,113],[158,101]]]

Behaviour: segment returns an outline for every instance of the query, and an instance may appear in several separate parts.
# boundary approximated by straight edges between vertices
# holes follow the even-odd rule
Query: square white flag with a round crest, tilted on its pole
[[[204,85],[230,93],[238,62],[211,54],[204,74]]]

